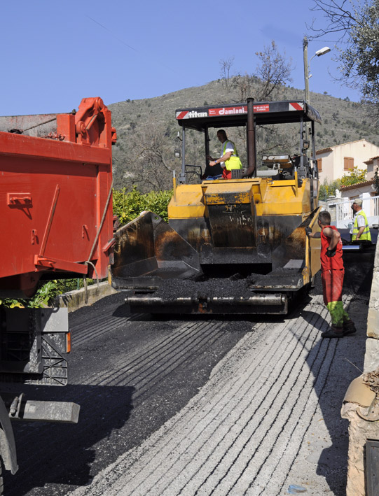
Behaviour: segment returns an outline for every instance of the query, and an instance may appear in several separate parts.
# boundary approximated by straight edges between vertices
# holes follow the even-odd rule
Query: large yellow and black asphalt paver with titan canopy
[[[131,290],[126,302],[138,313],[287,313],[319,270],[319,240],[304,229],[319,230],[319,113],[304,101],[248,99],[181,109],[177,121],[182,167],[169,222],[144,212],[118,230],[113,287]],[[259,169],[256,127],[277,124],[299,126],[299,154],[263,155]],[[204,133],[209,156],[209,128],[230,127],[247,129],[247,169],[233,170],[228,180],[189,184],[194,169],[186,164],[186,130]]]

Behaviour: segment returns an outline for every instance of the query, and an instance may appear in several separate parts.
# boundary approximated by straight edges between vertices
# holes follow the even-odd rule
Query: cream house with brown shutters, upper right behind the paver
[[[366,139],[351,141],[341,145],[331,146],[316,152],[319,169],[319,180],[323,184],[326,179],[329,183],[349,174],[349,170],[355,166],[358,169],[367,169],[366,161],[371,157],[379,157],[379,147],[373,145]]]

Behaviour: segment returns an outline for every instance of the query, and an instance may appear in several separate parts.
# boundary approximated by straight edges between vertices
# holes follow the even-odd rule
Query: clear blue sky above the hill
[[[1,6],[0,115],[67,112],[83,97],[106,105],[158,97],[232,71],[253,73],[255,52],[272,40],[293,59],[292,86],[303,89],[306,24],[322,15],[312,0],[19,0]],[[100,25],[101,24],[101,25]],[[310,42],[308,59],[337,36]],[[334,54],[334,55],[333,55]],[[310,91],[359,101],[333,82],[336,49],[312,59]]]

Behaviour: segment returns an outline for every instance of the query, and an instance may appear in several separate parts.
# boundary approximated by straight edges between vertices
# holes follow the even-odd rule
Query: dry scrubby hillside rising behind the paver
[[[249,94],[254,97],[254,89],[258,93],[260,81],[252,78],[249,84]],[[215,80],[204,86],[190,87],[161,97],[128,99],[109,105],[118,136],[116,146],[113,147],[115,187],[131,189],[137,185],[141,192],[169,190],[172,187],[172,170],[179,173],[181,168],[181,160],[174,158],[174,148],[180,148],[177,132],[181,131],[175,120],[175,110],[246,101],[245,97],[241,98],[241,94],[241,85],[227,85],[225,80]],[[303,99],[303,90],[281,86],[272,99]],[[362,138],[379,146],[378,129],[372,124],[373,120],[364,104],[313,92],[310,93],[310,104],[322,116],[322,125],[316,125],[317,149]],[[211,154],[218,155],[216,132],[214,136],[212,131],[210,134]],[[257,135],[258,157],[261,153],[298,152],[298,127],[281,125],[271,132],[257,132]],[[228,136],[235,141],[242,163],[246,164],[244,130],[230,129]],[[186,163],[198,164],[204,169],[203,135],[189,132],[187,143],[190,145],[187,150],[190,151],[186,155]]]

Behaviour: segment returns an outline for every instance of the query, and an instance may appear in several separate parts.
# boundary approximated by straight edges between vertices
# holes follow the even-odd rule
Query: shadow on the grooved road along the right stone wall
[[[350,274],[354,274],[356,270],[351,269],[352,267],[350,267]],[[361,278],[360,281],[364,281],[364,279]],[[354,281],[354,275],[352,278],[348,276],[345,293],[352,294],[352,286],[357,285],[357,283],[358,281]],[[330,440],[317,439],[316,433],[315,438],[312,439],[316,446],[315,458],[310,455],[312,458],[310,462],[317,463],[317,475],[324,476],[335,496],[345,495],[349,423],[340,417],[340,409],[348,385],[363,370],[369,288],[370,284],[366,285],[365,291],[353,296],[350,304],[346,307],[357,327],[357,333],[344,336],[341,339],[322,339],[320,337],[310,349],[306,359],[314,376],[314,390],[319,399],[322,420],[330,437]],[[329,328],[329,314],[327,320],[319,318],[312,311],[303,311],[301,315],[308,323],[312,323],[320,333]],[[307,432],[305,432],[306,434]],[[304,439],[303,442],[305,442]],[[322,448],[330,442],[331,446]],[[319,455],[317,455],[317,448],[322,450]]]

